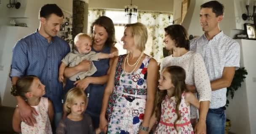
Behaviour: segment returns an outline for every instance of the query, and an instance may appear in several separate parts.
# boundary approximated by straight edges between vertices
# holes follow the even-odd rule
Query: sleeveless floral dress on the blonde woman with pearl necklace
[[[122,69],[125,56],[118,57],[115,87],[109,97],[108,134],[138,134],[144,117],[147,99],[147,67],[151,57],[146,55],[139,69],[129,75]]]

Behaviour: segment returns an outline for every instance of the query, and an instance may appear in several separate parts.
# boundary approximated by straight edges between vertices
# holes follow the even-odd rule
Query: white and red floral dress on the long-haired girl
[[[178,132],[174,127],[174,123],[177,119],[177,114],[175,113],[175,96],[169,98],[168,95],[166,95],[161,107],[161,118],[155,130],[155,134],[194,134],[192,124],[190,123],[190,106],[185,102],[185,93],[182,93],[181,103],[179,105],[181,120],[176,122]]]

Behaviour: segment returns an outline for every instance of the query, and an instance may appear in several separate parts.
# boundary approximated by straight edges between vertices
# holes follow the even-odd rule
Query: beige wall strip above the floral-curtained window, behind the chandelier
[[[130,4],[130,0],[89,0],[89,8],[124,9]],[[138,10],[173,11],[173,0],[133,0],[132,4],[137,5]]]

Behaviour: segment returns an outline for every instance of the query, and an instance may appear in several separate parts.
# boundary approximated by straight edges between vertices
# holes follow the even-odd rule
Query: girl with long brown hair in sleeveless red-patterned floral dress
[[[159,122],[155,134],[194,134],[190,123],[190,106],[199,108],[200,103],[187,91],[185,70],[178,66],[163,69],[159,80],[159,92],[155,113],[149,128]]]

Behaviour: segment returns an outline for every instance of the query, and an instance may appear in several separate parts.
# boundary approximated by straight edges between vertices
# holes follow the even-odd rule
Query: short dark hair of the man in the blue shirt
[[[43,17],[47,19],[53,13],[59,17],[64,17],[61,8],[59,8],[56,4],[46,4],[40,8],[39,18]]]

